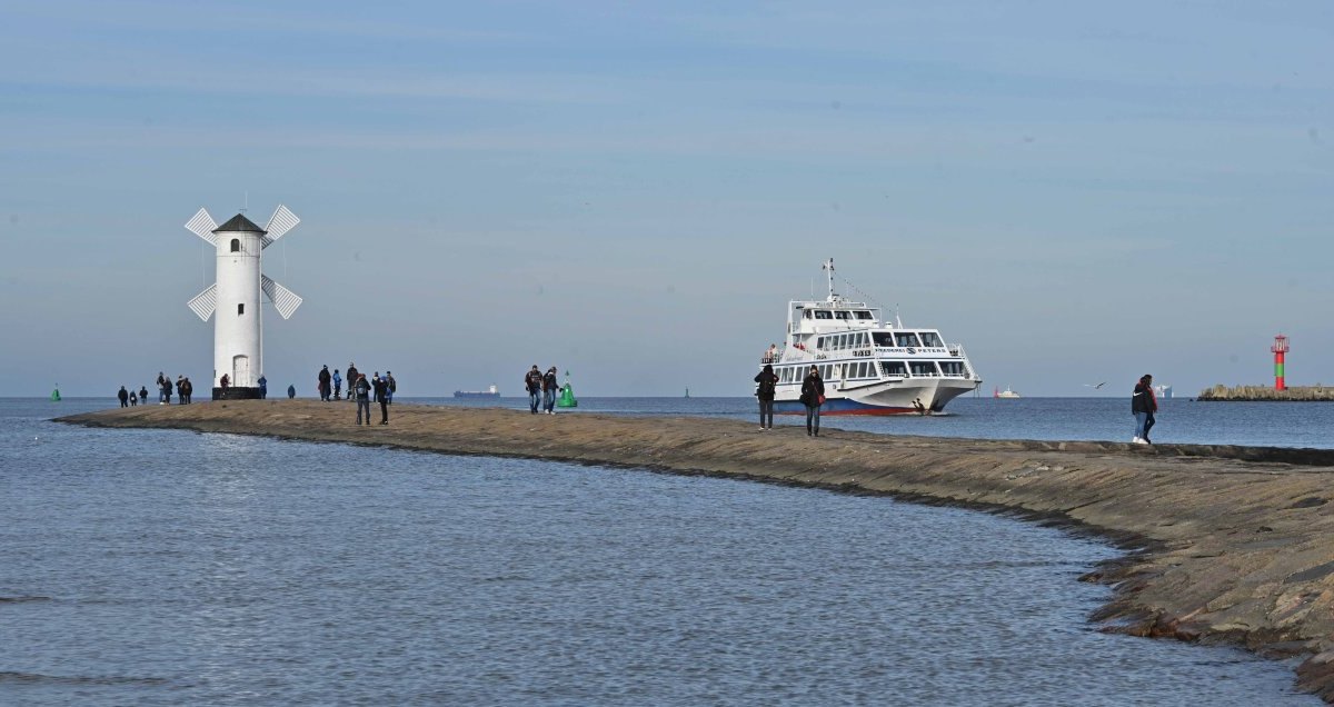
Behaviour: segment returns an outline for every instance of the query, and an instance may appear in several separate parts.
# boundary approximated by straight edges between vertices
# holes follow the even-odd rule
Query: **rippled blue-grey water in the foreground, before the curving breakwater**
[[[104,406],[0,400],[0,704],[1319,704],[1098,631],[1118,551],[1054,528],[49,422]]]

